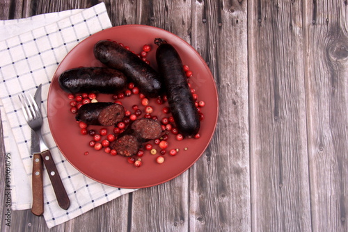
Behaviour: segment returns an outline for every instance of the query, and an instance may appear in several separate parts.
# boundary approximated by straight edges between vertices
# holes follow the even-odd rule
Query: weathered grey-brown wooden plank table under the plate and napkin
[[[3,0],[0,16],[96,3]],[[219,92],[219,122],[181,176],[51,231],[348,231],[347,1],[105,3],[113,26],[164,28],[201,54]],[[0,163],[3,183],[4,155]],[[47,231],[30,210],[13,211],[10,228],[0,223],[1,231]]]

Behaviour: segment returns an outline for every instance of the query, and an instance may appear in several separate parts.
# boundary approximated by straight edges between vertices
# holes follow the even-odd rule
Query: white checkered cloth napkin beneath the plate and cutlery
[[[67,53],[93,33],[111,27],[104,3],[88,9],[0,21],[0,110],[6,157],[10,157],[12,209],[31,208],[31,129],[26,124],[18,95],[34,94],[42,83],[42,133],[54,157],[71,204],[58,206],[44,172],[44,217],[49,228],[134,190],[103,185],[77,171],[58,150],[47,122],[47,93],[56,68]]]

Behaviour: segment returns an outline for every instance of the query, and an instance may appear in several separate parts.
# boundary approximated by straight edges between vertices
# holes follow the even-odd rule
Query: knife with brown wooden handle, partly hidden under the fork
[[[35,91],[34,99],[38,106],[41,105],[41,85]],[[33,156],[33,172],[32,172],[32,192],[33,205],[31,206],[31,213],[40,216],[44,212],[43,204],[43,163],[40,153],[40,142],[38,135],[31,130],[31,155]]]

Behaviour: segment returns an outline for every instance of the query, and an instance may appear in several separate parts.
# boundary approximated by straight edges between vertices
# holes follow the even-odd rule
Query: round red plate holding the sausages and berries
[[[189,69],[193,72],[190,83],[196,90],[196,94],[198,94],[198,100],[205,101],[205,106],[201,108],[205,118],[201,122],[199,139],[185,138],[182,141],[177,141],[175,135],[170,133],[164,163],[161,165],[156,163],[156,157],[160,149],[157,145],[154,145],[157,154],[151,155],[149,151],[146,151],[142,157],[143,165],[135,167],[129,164],[127,158],[123,156],[111,156],[104,151],[96,151],[88,146],[88,142],[92,140],[92,137],[80,134],[74,115],[70,113],[68,94],[59,87],[58,76],[66,69],[74,67],[102,67],[103,65],[99,60],[93,56],[93,46],[97,41],[107,39],[121,42],[138,53],[142,50],[144,44],[150,44],[152,50],[147,58],[150,60],[152,67],[157,69],[155,61],[157,45],[153,43],[155,38],[163,38],[173,44],[180,53],[184,65],[189,65]],[[106,94],[98,94],[97,99],[98,101],[112,101],[111,95]],[[126,110],[131,112],[134,104],[138,104],[142,110],[144,109],[140,104],[138,95],[126,97],[121,101]],[[159,119],[168,117],[168,115],[161,113],[161,108],[166,104],[159,105],[155,102],[155,99],[151,99],[150,106],[155,108],[153,115],[157,115]],[[95,181],[118,188],[146,188],[174,179],[189,169],[203,154],[216,127],[218,97],[214,78],[209,68],[203,58],[187,42],[160,28],[126,25],[95,33],[80,42],[68,53],[52,79],[48,94],[47,112],[49,127],[58,148],[79,172]],[[89,126],[89,128],[99,131],[101,126]],[[109,133],[112,133],[112,129],[112,126],[108,128]],[[179,152],[176,156],[168,154],[169,149],[177,148]],[[89,152],[87,156],[84,155],[85,151]]]

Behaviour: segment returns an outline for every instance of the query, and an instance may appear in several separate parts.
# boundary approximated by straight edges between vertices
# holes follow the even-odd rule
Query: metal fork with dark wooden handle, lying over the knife
[[[33,96],[31,96],[31,94],[29,94],[29,97],[27,97],[26,94],[22,94],[22,96],[19,96],[19,100],[22,104],[22,110],[26,122],[28,123],[29,127],[33,131],[35,131],[40,140],[40,151],[42,160],[44,161],[47,172],[49,174],[48,176],[51,180],[54,193],[56,194],[58,205],[66,210],[70,206],[70,200],[61,181],[61,177],[58,174],[58,170],[52,158],[51,152],[45,144],[45,140],[42,138],[41,127],[43,119],[41,110],[38,104],[33,99]]]

